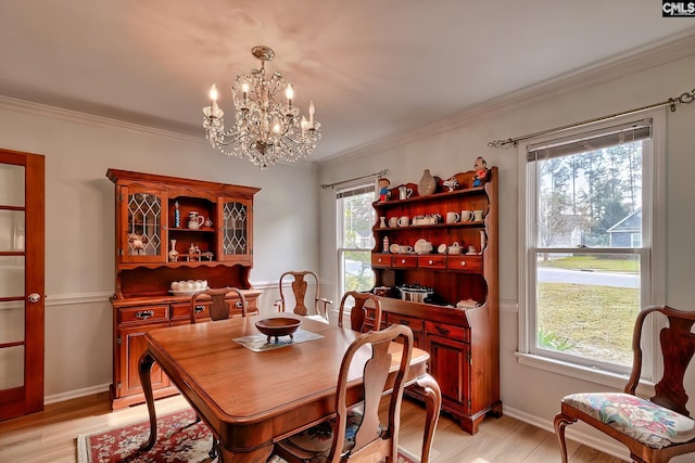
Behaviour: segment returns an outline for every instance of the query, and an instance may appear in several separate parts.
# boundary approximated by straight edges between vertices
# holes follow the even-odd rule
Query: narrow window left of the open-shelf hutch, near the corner
[[[375,184],[362,184],[339,190],[338,211],[338,275],[342,297],[346,291],[368,291],[374,287],[371,271],[371,227],[376,198]]]

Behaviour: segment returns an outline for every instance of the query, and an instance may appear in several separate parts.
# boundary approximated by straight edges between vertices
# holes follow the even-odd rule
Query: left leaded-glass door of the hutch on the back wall
[[[119,197],[124,223],[121,250],[124,262],[166,261],[166,192],[124,187]],[[125,210],[124,210],[125,209]]]

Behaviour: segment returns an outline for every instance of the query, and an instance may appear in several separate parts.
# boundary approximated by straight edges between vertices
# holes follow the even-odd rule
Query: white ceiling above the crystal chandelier
[[[692,34],[657,0],[0,0],[0,94],[203,138],[266,44],[317,160]]]

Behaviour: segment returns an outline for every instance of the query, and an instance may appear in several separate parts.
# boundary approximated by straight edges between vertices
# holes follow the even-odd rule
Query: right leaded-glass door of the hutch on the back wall
[[[250,262],[253,249],[251,202],[223,197],[218,202],[219,260]]]

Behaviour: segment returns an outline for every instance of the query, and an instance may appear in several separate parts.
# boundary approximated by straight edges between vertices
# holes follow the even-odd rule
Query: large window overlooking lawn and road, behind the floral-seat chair
[[[520,352],[630,371],[635,317],[664,291],[662,133],[652,112],[520,145]]]

